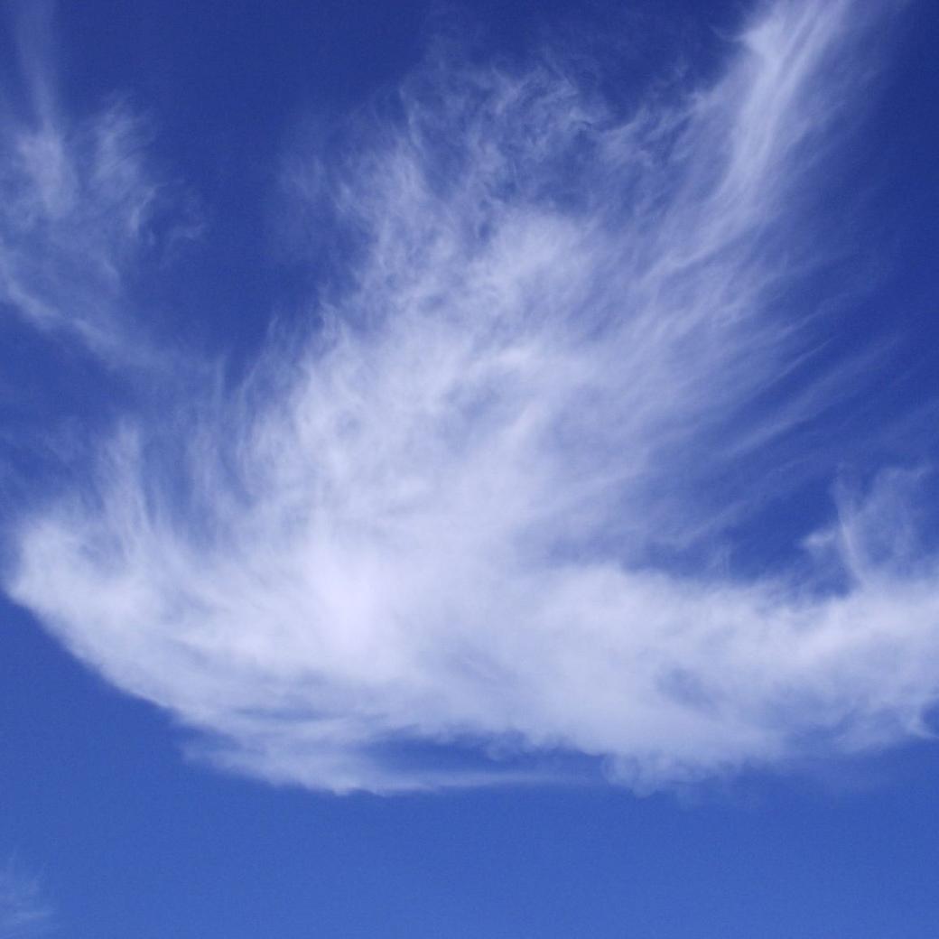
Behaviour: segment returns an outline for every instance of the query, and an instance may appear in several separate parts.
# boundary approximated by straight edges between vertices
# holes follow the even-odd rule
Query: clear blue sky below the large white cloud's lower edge
[[[691,798],[337,798],[180,760],[146,705],[7,608],[0,837],[62,935],[851,935],[935,929],[921,747]]]

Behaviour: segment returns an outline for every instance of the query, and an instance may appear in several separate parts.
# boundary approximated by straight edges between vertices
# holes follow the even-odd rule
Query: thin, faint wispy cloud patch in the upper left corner
[[[0,120],[0,312],[77,337],[111,364],[139,363],[127,281],[167,240],[197,231],[192,207],[150,165],[152,133],[126,100],[81,117],[62,107],[53,5],[7,12],[22,81]],[[167,227],[170,208],[179,217]]]

